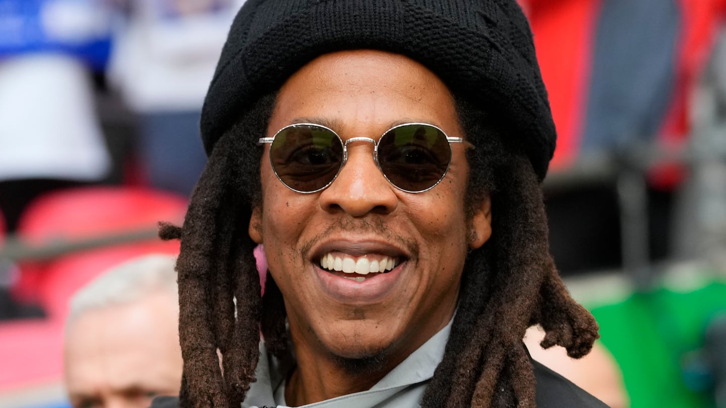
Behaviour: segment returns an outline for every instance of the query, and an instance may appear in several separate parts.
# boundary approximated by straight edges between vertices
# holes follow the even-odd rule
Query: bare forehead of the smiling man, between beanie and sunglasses
[[[324,54],[303,66],[280,88],[268,133],[310,118],[335,131],[385,131],[412,121],[459,133],[454,99],[436,74],[403,55],[375,50]]]

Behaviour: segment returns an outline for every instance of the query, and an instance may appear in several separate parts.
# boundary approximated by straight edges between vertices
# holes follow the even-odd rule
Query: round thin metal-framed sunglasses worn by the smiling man
[[[373,160],[386,179],[404,192],[425,192],[444,179],[452,159],[451,143],[462,137],[446,136],[428,123],[404,123],[388,129],[378,142],[370,137],[351,137],[343,142],[330,128],[314,123],[295,123],[263,137],[271,143],[272,170],[282,184],[295,192],[319,192],[330,186],[348,158],[348,144],[371,142]],[[473,147],[468,142],[468,147]]]

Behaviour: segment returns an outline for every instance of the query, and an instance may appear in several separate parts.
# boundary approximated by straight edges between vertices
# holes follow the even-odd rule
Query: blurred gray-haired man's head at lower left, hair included
[[[145,408],[178,395],[181,351],[173,256],[149,255],[74,295],[65,333],[65,385],[75,408]]]

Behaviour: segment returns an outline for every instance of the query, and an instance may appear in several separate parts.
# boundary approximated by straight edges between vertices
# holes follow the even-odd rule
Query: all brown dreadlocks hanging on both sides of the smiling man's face
[[[256,139],[273,107],[274,95],[262,97],[221,136],[183,228],[160,229],[162,237],[181,238],[182,408],[240,407],[255,380],[260,331],[272,354],[287,348],[282,293],[268,273],[261,298],[255,243],[247,234],[253,208],[261,205]],[[468,253],[451,335],[422,406],[534,407],[534,371],[522,342],[526,328],[542,325],[543,347],[560,345],[580,357],[597,338],[597,325],[555,269],[539,180],[522,147],[485,125],[490,121],[473,104],[457,100],[457,111],[464,134],[476,144],[468,152],[468,212],[490,197],[492,237]]]

